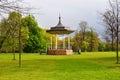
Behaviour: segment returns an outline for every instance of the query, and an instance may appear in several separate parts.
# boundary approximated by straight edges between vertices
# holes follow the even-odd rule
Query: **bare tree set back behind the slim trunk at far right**
[[[106,27],[105,34],[110,36],[111,40],[111,49],[114,51],[114,40],[115,40],[115,17],[111,11],[106,11],[103,16],[103,22]]]

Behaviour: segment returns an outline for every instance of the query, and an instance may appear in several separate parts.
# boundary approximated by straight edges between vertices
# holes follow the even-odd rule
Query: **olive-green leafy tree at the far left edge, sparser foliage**
[[[20,18],[22,18],[20,13],[11,12],[9,14],[8,19],[4,19],[1,22],[1,33],[2,33],[1,37],[3,37],[1,42],[4,40],[3,43],[1,44],[1,48],[2,48],[2,45],[4,46],[6,45],[7,47],[11,47],[11,48],[18,46],[17,44],[18,43],[18,30],[19,30],[18,25],[20,22]],[[8,41],[9,41],[9,44],[6,43]],[[18,51],[18,49],[16,51]]]

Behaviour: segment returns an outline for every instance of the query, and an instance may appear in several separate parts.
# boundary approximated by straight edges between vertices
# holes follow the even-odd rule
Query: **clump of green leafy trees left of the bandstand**
[[[45,51],[49,41],[45,30],[38,26],[32,15],[23,17],[18,12],[11,12],[0,22],[0,52],[19,52],[19,37],[22,52],[26,53]]]

